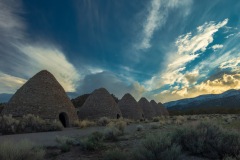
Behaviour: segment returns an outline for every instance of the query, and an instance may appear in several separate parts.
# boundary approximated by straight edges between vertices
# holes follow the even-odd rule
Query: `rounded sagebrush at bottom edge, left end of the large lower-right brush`
[[[133,160],[177,160],[181,147],[173,143],[167,134],[150,135],[142,141],[133,153]]]

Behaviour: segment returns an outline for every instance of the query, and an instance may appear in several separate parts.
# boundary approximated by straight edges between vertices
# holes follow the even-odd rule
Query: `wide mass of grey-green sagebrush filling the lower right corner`
[[[171,132],[149,135],[134,152],[133,159],[181,159],[186,156],[238,159],[240,134],[209,122],[176,127]]]

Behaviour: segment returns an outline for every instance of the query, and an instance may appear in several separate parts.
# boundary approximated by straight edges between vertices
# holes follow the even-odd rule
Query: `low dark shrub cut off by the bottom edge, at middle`
[[[129,155],[119,149],[107,151],[103,155],[103,160],[127,160]]]

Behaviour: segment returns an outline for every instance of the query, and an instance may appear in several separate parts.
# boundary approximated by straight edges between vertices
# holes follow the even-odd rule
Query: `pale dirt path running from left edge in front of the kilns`
[[[130,133],[132,131],[135,131],[137,125],[138,124],[131,124],[127,126],[125,132]],[[147,127],[146,124],[141,124],[141,125]],[[67,128],[67,129],[64,129],[63,131],[55,131],[55,132],[3,135],[3,136],[0,136],[0,143],[4,140],[18,142],[20,140],[27,139],[40,146],[55,146],[57,145],[55,141],[56,136],[84,137],[95,131],[104,132],[104,129],[105,127],[89,127],[84,129]]]

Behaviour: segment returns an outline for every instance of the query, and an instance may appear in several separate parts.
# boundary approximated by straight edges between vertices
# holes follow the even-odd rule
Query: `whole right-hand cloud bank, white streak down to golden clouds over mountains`
[[[239,89],[239,74],[235,73],[240,71],[238,58],[240,46],[237,44],[230,50],[224,49],[224,45],[229,46],[239,40],[236,38],[237,35],[224,45],[210,46],[214,41],[214,35],[227,23],[228,19],[219,23],[206,22],[199,26],[195,33],[189,32],[177,38],[175,43],[177,51],[169,53],[166,70],[145,82],[149,91],[159,88],[159,93],[153,92],[155,99],[165,102]],[[208,48],[213,49],[213,53],[206,58],[206,52],[211,52]],[[211,74],[217,74],[216,70],[232,74],[212,79]],[[166,85],[170,86],[167,90]]]

